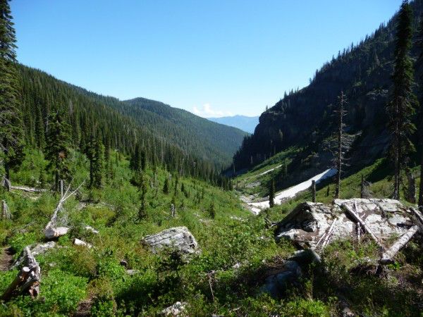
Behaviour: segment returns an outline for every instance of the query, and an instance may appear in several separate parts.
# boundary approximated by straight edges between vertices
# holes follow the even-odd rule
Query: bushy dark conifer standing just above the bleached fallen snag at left
[[[69,180],[71,170],[69,168],[69,125],[61,109],[53,111],[49,115],[47,130],[46,159],[49,160],[47,168],[54,173],[54,190],[59,192],[59,180]]]

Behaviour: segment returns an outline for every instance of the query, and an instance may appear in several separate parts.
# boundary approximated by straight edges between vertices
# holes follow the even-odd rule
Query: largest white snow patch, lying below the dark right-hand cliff
[[[293,187],[283,190],[282,192],[279,192],[278,194],[275,195],[274,203],[281,204],[282,201],[288,198],[295,197],[295,195],[298,194],[299,192],[302,192],[303,190],[312,186],[313,180],[315,180],[316,183],[319,183],[322,180],[326,180],[326,178],[331,178],[334,175],[336,175],[336,168],[329,168],[328,170],[325,170],[323,173],[320,173],[314,176],[313,178],[306,180],[305,182],[300,182],[300,184],[298,185],[295,185]],[[262,211],[263,209],[269,208],[269,200],[248,203],[248,206],[250,206],[250,210],[253,213],[258,215],[260,211]]]

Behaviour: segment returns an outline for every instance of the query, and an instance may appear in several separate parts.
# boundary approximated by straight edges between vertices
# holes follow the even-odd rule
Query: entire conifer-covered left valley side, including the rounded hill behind
[[[228,165],[245,135],[245,132],[238,129],[210,123],[158,101],[147,102],[147,99],[142,99],[143,104],[148,103],[151,108],[161,109],[154,112],[151,108],[134,106],[131,102],[88,92],[26,66],[20,66],[20,73],[24,114],[28,114],[24,116],[27,121],[28,142],[36,139],[35,120],[43,120],[45,125],[50,108],[54,106],[63,106],[70,112],[75,140],[79,138],[80,130],[85,129],[81,126],[82,118],[76,118],[93,118],[84,120],[90,122],[89,125],[94,123],[90,130],[102,130],[104,135],[113,139],[112,145],[123,151],[133,151],[133,140],[137,139],[145,147],[154,147],[157,157],[166,156],[164,148],[173,147],[178,148],[180,155],[195,157],[194,161],[200,159],[210,162],[218,168]],[[41,114],[38,115],[37,111]],[[47,126],[42,130],[45,128]],[[110,133],[109,130],[117,133]]]

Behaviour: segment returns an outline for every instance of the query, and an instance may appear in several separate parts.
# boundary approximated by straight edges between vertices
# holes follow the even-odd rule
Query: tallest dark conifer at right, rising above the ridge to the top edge
[[[393,198],[400,198],[400,171],[405,166],[407,154],[414,150],[410,135],[415,131],[412,115],[417,99],[412,92],[413,68],[410,58],[412,44],[412,10],[408,1],[403,1],[398,14],[396,46],[394,51],[393,90],[391,101],[386,106],[388,126],[392,139],[388,156],[394,167]]]

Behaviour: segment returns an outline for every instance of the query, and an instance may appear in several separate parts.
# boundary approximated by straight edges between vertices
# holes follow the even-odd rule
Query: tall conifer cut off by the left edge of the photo
[[[6,178],[10,178],[10,170],[20,166],[24,158],[15,50],[11,10],[8,0],[0,0],[0,150]]]

